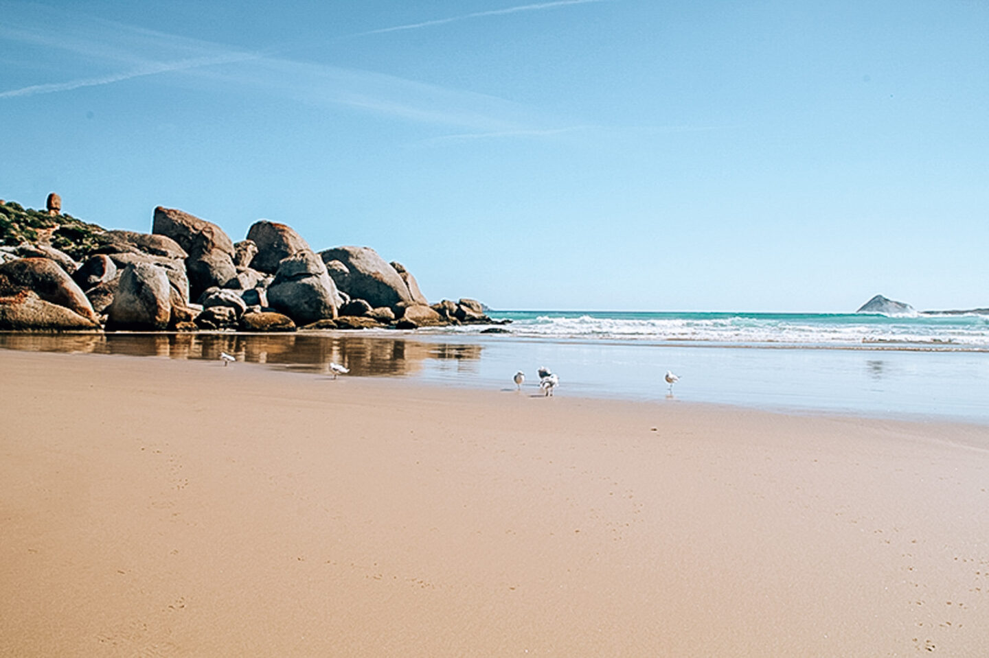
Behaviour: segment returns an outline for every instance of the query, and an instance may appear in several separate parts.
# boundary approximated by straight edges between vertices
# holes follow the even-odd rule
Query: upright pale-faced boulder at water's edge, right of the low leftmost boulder
[[[107,328],[158,331],[168,327],[171,316],[172,286],[164,268],[128,265],[107,309]]]

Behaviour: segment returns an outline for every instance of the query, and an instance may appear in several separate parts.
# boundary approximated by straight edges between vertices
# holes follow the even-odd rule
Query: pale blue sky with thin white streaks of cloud
[[[494,308],[989,306],[989,2],[0,0],[0,198]]]

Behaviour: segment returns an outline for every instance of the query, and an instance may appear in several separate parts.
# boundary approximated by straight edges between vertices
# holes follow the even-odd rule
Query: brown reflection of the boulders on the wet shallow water
[[[472,371],[481,345],[424,343],[411,338],[307,334],[18,334],[0,333],[0,349],[32,352],[119,354],[132,357],[237,361],[307,372],[328,372],[335,362],[351,376],[403,376],[422,370],[426,361]]]

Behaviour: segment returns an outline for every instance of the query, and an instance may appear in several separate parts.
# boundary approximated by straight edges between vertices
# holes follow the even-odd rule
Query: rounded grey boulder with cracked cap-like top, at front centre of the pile
[[[326,266],[312,251],[300,251],[278,265],[268,287],[268,303],[297,325],[332,319],[343,303]]]

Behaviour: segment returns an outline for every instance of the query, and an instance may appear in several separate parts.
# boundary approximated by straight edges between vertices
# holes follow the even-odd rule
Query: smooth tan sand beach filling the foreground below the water
[[[989,655],[986,427],[0,373],[2,656]]]

